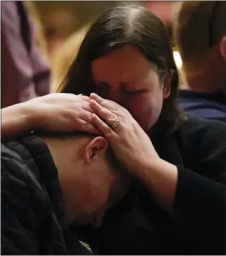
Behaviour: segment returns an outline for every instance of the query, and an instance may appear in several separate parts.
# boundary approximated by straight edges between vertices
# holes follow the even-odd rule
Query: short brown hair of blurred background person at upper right
[[[226,35],[226,2],[176,3],[172,33],[182,61],[194,64]]]

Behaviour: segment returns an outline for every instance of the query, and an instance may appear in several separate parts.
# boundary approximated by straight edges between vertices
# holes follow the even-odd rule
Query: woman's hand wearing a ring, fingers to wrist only
[[[136,175],[141,166],[159,159],[150,138],[130,112],[116,102],[105,100],[94,93],[90,95],[90,99],[90,107],[96,113],[93,114],[93,123],[128,170]],[[121,117],[122,121],[116,128],[111,128],[117,117]]]

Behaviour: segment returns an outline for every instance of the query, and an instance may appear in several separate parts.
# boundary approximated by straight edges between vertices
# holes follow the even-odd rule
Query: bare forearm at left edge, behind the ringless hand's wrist
[[[19,103],[2,109],[2,138],[26,133],[32,129],[32,113],[26,103]]]

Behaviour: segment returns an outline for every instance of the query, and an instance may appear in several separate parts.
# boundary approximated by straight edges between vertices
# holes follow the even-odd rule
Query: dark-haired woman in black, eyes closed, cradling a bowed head
[[[9,117],[19,110],[23,131],[97,128],[136,177],[132,204],[112,209],[91,241],[100,253],[224,253],[226,127],[186,118],[177,81],[162,22],[146,8],[113,8],[90,28],[60,87],[88,97],[54,94],[4,110],[4,136],[18,133]]]

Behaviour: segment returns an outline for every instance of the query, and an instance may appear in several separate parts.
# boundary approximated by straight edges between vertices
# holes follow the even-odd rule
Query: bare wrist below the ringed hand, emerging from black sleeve
[[[167,212],[172,206],[177,191],[177,166],[162,159],[142,166],[136,176],[146,185],[152,196]]]

